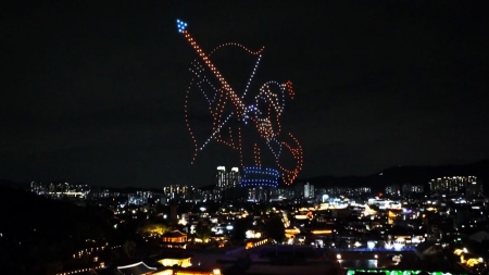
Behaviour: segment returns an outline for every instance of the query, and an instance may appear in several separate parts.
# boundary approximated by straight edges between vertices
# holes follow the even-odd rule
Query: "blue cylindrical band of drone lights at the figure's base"
[[[241,187],[278,187],[280,173],[275,168],[249,166],[243,168]]]

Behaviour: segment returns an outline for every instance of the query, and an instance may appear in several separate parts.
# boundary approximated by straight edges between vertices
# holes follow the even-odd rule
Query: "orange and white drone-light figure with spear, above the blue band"
[[[218,88],[214,87],[209,82],[209,79],[206,79],[205,76],[202,76],[203,72],[204,72],[204,67],[197,60],[195,60],[192,62],[192,68],[190,68],[190,71],[196,75],[196,78],[200,79],[200,82],[195,83],[196,78],[193,78],[190,82],[189,90],[187,91],[187,97],[186,97],[186,110],[185,110],[186,122],[187,122],[187,126],[190,132],[190,136],[192,137],[192,140],[193,140],[193,143],[196,147],[192,163],[196,160],[198,151],[203,150],[205,145],[209,141],[214,139],[214,140],[217,140],[222,143],[225,143],[225,145],[238,150],[240,152],[241,166],[244,167],[244,165],[242,163],[242,142],[241,142],[240,127],[238,127],[238,142],[235,141],[235,138],[230,138],[230,140],[223,140],[221,138],[221,130],[222,130],[223,126],[233,117],[233,115],[236,115],[238,121],[241,121],[244,124],[248,124],[249,122],[254,123],[261,137],[266,140],[266,145],[268,146],[269,150],[272,151],[272,153],[274,154],[274,157],[276,159],[276,164],[277,164],[278,168],[281,171],[281,177],[283,177],[284,183],[286,185],[292,184],[293,180],[297,178],[299,172],[302,170],[302,148],[301,148],[299,141],[292,136],[291,133],[289,133],[289,136],[296,142],[297,147],[293,148],[285,141],[277,140],[277,137],[280,134],[280,128],[281,128],[280,124],[279,124],[279,117],[280,117],[281,113],[284,112],[285,93],[290,96],[292,99],[294,96],[293,90],[292,90],[292,83],[287,82],[285,84],[279,84],[276,82],[267,82],[267,83],[263,84],[262,87],[260,88],[260,92],[255,97],[255,104],[246,105],[243,103],[243,98],[248,92],[248,89],[253,79],[254,73],[256,71],[256,67],[260,64],[260,60],[262,58],[261,53],[264,50],[264,48],[260,49],[259,51],[253,52],[253,51],[250,51],[249,49],[247,49],[244,46],[239,45],[239,43],[226,43],[226,45],[215,48],[213,51],[210,52],[210,54],[205,54],[205,52],[199,47],[199,45],[195,41],[195,39],[190,36],[190,34],[186,29],[187,26],[188,26],[187,23],[177,20],[178,33],[180,33],[185,36],[185,38],[188,40],[190,46],[192,46],[192,48],[197,51],[197,53],[199,54],[200,59],[203,61],[205,66],[211,70],[212,74],[217,78],[217,80],[221,84],[221,87],[218,87]],[[248,51],[249,53],[251,53],[253,55],[258,55],[253,73],[251,74],[251,76],[247,83],[247,87],[241,97],[238,96],[238,93],[231,88],[231,86],[226,82],[224,76],[220,73],[220,71],[211,62],[210,57],[212,55],[212,53],[224,46],[240,47],[241,49]],[[206,95],[206,92],[204,92],[203,89],[201,88],[201,85],[203,82],[211,85],[211,87],[214,89],[215,93],[213,95],[212,98],[208,97],[209,95]],[[188,101],[188,95],[190,91],[190,87],[193,84],[197,85],[201,89],[201,91],[204,93],[204,96],[208,100],[208,103],[209,103],[211,114],[213,115],[213,134],[201,146],[199,146],[197,143],[197,140],[193,136],[193,133],[191,130],[191,127],[190,127],[189,121],[188,121],[187,101]],[[283,92],[281,101],[280,101],[279,96],[271,90],[271,86],[279,87],[280,91]],[[231,112],[226,118],[223,120],[222,113],[224,111],[224,105],[228,100],[230,100],[233,102],[233,104],[235,105],[235,112]],[[266,111],[261,111],[256,108],[261,101],[265,102],[267,104],[268,108]],[[213,105],[215,105],[215,104],[217,104],[217,107],[213,108]],[[276,115],[274,118],[276,120],[276,122],[278,124],[278,129],[276,129],[276,130],[274,130],[272,127],[272,118],[273,118],[272,112],[271,112],[272,109],[274,109],[274,111],[275,111]],[[229,128],[229,135],[233,137],[231,128]],[[236,133],[235,133],[235,135],[236,135]],[[238,145],[236,145],[236,143],[238,143]],[[274,143],[278,147],[278,149],[274,149],[272,147]],[[255,143],[255,147],[256,147],[256,143]],[[280,165],[279,157],[281,154],[283,148],[286,148],[292,154],[292,157],[296,161],[296,164],[297,164],[296,168],[288,170]],[[253,154],[254,154],[255,165],[261,166],[260,148],[258,148],[258,149],[255,148]]]

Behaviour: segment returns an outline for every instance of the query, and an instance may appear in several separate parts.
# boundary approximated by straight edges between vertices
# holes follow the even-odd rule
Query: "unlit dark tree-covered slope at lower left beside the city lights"
[[[10,274],[60,271],[83,248],[117,242],[112,216],[106,209],[77,207],[0,186],[2,268]]]

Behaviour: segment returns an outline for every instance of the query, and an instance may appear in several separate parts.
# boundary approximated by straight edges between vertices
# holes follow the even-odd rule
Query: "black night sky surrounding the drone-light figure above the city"
[[[485,1],[296,2],[11,1],[0,9],[0,178],[200,186],[238,165],[220,146],[190,165],[196,55],[176,18],[206,51],[266,46],[258,75],[294,84],[283,122],[302,143],[301,177],[489,158]]]

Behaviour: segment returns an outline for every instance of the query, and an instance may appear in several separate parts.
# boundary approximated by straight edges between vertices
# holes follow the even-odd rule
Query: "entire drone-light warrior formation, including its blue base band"
[[[286,97],[293,99],[292,83],[266,82],[254,93],[249,92],[264,48],[251,51],[242,45],[230,42],[205,53],[187,30],[187,23],[177,20],[177,27],[198,54],[198,59],[192,62],[190,67],[193,77],[187,90],[185,105],[187,126],[195,145],[191,162],[195,163],[199,152],[214,141],[239,152],[240,165],[243,171],[241,187],[276,188],[280,178],[284,184],[291,185],[302,170],[302,148],[291,133],[280,135],[280,116],[284,113]],[[237,47],[256,58],[243,90],[231,87],[211,59],[212,54],[225,47]],[[189,109],[188,102],[189,96],[195,92],[203,95],[212,116],[211,135],[203,142],[197,140],[195,129],[190,124],[192,110]],[[250,93],[252,95],[250,96]],[[233,111],[226,113],[225,107],[229,104],[233,107]],[[244,140],[243,127],[247,129],[252,127],[260,137],[260,140],[253,140],[252,149],[249,150],[243,146],[246,141],[250,142],[250,140]],[[289,138],[293,145],[284,141],[285,138]],[[274,166],[262,165],[263,154],[260,147],[262,143],[266,145],[264,148],[272,152]],[[292,155],[293,164],[290,166],[281,163],[284,158],[280,157],[286,151]],[[243,154],[252,154],[253,163],[247,163]]]

